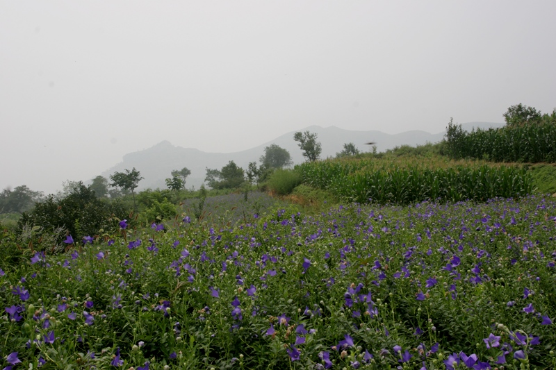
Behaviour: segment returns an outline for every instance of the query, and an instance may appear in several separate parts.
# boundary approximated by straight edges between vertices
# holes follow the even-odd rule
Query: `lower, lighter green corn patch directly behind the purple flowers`
[[[357,203],[409,204],[431,201],[486,201],[531,194],[533,179],[525,169],[504,165],[448,161],[377,160],[307,162],[297,167],[307,185]]]

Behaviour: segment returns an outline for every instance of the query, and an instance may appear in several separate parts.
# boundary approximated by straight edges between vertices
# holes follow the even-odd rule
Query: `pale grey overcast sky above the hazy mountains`
[[[556,108],[556,1],[0,0],[0,188],[56,192],[168,140],[440,133]]]

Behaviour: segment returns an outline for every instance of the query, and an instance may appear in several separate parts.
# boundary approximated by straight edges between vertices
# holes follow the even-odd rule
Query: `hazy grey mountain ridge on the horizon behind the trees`
[[[500,124],[473,122],[471,124],[464,124],[462,127],[467,129],[468,125],[472,127]],[[407,131],[390,135],[380,131],[349,131],[335,126],[326,128],[309,126],[302,131],[317,133],[318,141],[322,144],[320,158],[335,156],[336,153],[342,151],[343,144],[348,142],[353,142],[355,146],[363,152],[372,150],[370,145],[365,144],[366,142],[376,142],[377,150],[385,151],[386,149],[393,149],[395,146],[404,144],[416,146],[418,144],[426,144],[427,142],[439,142],[444,136],[444,133],[431,134],[425,131]],[[270,144],[277,144],[289,151],[294,163],[303,162],[304,158],[302,152],[299,146],[297,146],[297,142],[293,140],[293,134],[294,132],[292,131],[270,142],[265,142],[252,149],[238,151],[236,153],[206,153],[198,149],[174,146],[165,140],[149,149],[124,155],[122,162],[104,171],[102,176],[108,178],[108,176],[115,171],[121,172],[124,171],[124,169],[132,169],[135,167],[140,171],[141,176],[144,177],[139,183],[138,189],[156,189],[157,187],[166,187],[164,180],[170,177],[170,172],[173,169],[187,167],[190,169],[191,174],[187,179],[186,187],[190,188],[194,186],[195,189],[198,189],[204,182],[206,168],[221,169],[224,165],[227,165],[230,160],[233,160],[238,166],[247,169],[249,162],[259,163],[259,158],[263,155],[265,147]]]

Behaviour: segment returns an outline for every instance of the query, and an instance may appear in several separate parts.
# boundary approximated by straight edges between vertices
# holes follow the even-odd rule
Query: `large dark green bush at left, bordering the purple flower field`
[[[44,201],[37,203],[33,210],[24,212],[17,225],[19,233],[25,227],[38,226],[44,232],[53,233],[61,229],[76,237],[76,240],[86,235],[97,235],[102,230],[115,228],[116,219],[123,219],[127,210],[117,201],[98,199],[95,192],[79,183],[70,195],[57,200],[50,195]],[[63,235],[58,235],[59,244]]]

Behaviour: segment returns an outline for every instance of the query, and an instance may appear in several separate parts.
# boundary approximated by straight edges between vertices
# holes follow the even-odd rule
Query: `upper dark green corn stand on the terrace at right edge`
[[[494,162],[556,162],[556,125],[530,124],[467,133],[450,124],[448,153],[452,158],[480,158]]]

